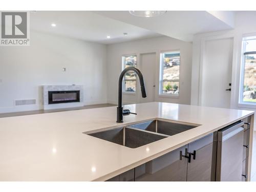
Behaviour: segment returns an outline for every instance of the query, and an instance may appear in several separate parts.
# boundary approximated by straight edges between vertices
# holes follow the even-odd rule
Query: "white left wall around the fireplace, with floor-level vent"
[[[0,113],[41,109],[39,87],[48,84],[83,84],[84,104],[106,103],[105,45],[35,31],[30,39],[28,47],[0,47]]]

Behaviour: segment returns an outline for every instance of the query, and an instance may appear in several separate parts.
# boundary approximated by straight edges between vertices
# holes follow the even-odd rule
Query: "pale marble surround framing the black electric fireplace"
[[[80,102],[70,103],[48,103],[49,91],[80,91]],[[42,86],[42,101],[44,110],[61,109],[61,108],[74,108],[77,106],[83,106],[83,86],[82,85],[68,85],[68,86]]]

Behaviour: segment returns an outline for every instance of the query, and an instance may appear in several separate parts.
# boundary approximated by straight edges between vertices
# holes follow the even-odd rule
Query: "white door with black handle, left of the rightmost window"
[[[205,41],[201,105],[230,108],[233,38]]]

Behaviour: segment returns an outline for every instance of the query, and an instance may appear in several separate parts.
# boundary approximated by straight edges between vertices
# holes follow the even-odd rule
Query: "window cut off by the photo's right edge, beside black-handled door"
[[[256,104],[256,36],[243,38],[240,103]]]

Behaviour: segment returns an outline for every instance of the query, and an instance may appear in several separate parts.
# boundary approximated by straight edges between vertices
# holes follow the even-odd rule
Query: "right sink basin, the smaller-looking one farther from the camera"
[[[162,120],[153,120],[143,123],[137,123],[129,125],[127,127],[133,127],[140,130],[146,130],[150,132],[165,134],[168,136],[176,135],[178,133],[195,128],[195,125],[187,125],[181,123],[167,122]]]

